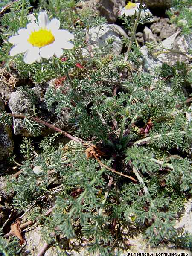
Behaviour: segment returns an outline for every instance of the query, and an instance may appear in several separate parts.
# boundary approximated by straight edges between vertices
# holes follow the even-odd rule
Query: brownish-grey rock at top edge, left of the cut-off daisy
[[[99,0],[98,10],[100,15],[106,17],[109,23],[117,20],[118,12],[125,7],[125,0]]]

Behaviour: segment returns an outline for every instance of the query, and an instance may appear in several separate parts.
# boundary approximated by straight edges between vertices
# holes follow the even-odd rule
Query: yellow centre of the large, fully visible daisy
[[[31,32],[27,41],[33,46],[43,47],[54,42],[55,38],[50,30],[41,28]]]

